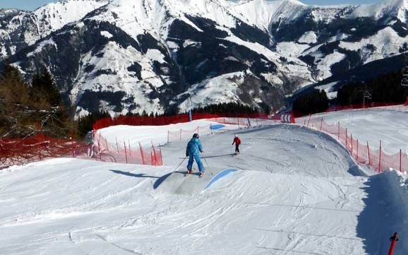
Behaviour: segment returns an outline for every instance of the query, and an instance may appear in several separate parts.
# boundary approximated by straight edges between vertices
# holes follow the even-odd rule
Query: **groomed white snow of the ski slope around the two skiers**
[[[396,114],[365,119],[388,134]],[[356,129],[366,125],[360,119]],[[183,125],[196,123],[176,129]],[[104,130],[110,141],[124,134],[138,141],[152,127]],[[243,141],[236,156],[234,134]],[[186,141],[162,146],[162,167],[60,158],[2,170],[0,254],[386,254],[394,232],[395,254],[407,254],[406,174],[363,172],[334,138],[296,125],[200,140],[205,174],[238,171],[193,194],[160,186],[184,159]]]

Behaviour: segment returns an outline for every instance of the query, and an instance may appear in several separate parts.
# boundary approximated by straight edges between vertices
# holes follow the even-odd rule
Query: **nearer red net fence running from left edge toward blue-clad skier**
[[[126,164],[163,165],[162,151],[153,145],[143,148],[138,144],[133,148],[130,143],[109,144],[102,137],[98,137],[94,143],[83,143],[42,134],[28,138],[0,139],[0,169],[47,158],[81,158]]]

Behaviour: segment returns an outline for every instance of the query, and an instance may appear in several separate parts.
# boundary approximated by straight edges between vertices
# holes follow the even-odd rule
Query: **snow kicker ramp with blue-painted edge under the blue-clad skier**
[[[176,171],[157,179],[153,187],[172,194],[194,194],[209,189],[212,184],[236,171],[235,169],[206,171],[203,177],[198,177],[198,172],[184,176],[186,172]]]

